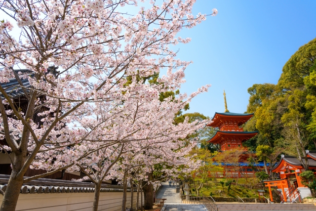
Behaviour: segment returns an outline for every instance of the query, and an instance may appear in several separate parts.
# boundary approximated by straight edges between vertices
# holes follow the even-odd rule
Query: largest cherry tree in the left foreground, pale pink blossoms
[[[96,102],[111,103],[111,109],[131,96],[155,98],[157,89],[137,83],[136,76],[162,68],[167,76],[158,86],[172,90],[183,82],[190,62],[176,59],[169,45],[189,42],[177,33],[206,19],[192,15],[194,2],[151,0],[129,14],[125,6],[137,6],[137,0],[0,0],[8,19],[0,22],[0,135],[7,143],[0,147],[15,155],[1,211],[15,210],[23,182],[77,162],[57,160],[47,173],[23,179],[39,153],[85,139],[85,130],[69,126],[95,115]],[[132,82],[124,86],[128,77]],[[4,85],[12,79],[27,102],[25,112]],[[22,83],[26,79],[29,84]]]

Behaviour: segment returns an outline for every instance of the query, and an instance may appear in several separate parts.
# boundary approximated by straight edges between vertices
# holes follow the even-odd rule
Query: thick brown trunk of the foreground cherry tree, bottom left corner
[[[12,169],[13,171],[13,169]],[[22,178],[15,177],[16,173],[12,172],[8,185],[3,196],[0,211],[15,211],[16,204],[20,195],[21,187],[23,185]]]

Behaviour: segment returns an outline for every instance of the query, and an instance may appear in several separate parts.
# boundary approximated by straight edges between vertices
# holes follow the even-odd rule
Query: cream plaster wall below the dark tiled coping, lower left
[[[91,211],[93,195],[94,193],[20,194],[16,211]],[[137,192],[134,192],[134,209],[136,208],[136,196]],[[100,193],[98,211],[120,211],[122,197],[122,192]],[[0,203],[2,198],[0,195]],[[129,204],[130,193],[127,193],[126,207],[129,207]]]

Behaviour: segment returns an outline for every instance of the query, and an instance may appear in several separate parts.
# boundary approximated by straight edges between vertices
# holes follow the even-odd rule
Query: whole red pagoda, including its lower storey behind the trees
[[[211,137],[208,142],[213,143],[215,145],[219,145],[221,151],[227,151],[233,148],[242,148],[242,142],[254,137],[258,132],[256,131],[243,131],[241,127],[244,123],[246,123],[253,114],[237,114],[232,113],[227,109],[226,102],[226,93],[224,90],[224,105],[225,112],[224,113],[215,113],[212,118],[212,123],[210,123],[209,127],[217,128],[215,135]],[[244,177],[254,176],[255,170],[249,167],[249,162],[246,162],[249,157],[250,152],[246,152],[239,158],[238,167],[236,170],[236,166],[231,166],[229,169],[223,173],[217,172],[216,177]],[[222,166],[230,166],[226,164],[222,164]],[[257,169],[263,169],[264,164],[252,164],[252,166],[256,166]]]

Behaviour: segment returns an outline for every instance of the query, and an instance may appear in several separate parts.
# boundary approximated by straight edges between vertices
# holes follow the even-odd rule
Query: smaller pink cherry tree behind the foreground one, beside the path
[[[135,176],[135,172],[138,171],[135,168],[152,165],[154,162],[161,163],[165,160],[173,161],[173,164],[187,163],[188,159],[183,162],[180,158],[187,155],[195,144],[191,143],[185,147],[185,142],[181,140],[203,127],[205,122],[189,124],[186,121],[175,125],[173,119],[192,97],[206,89],[206,87],[200,88],[187,100],[184,100],[187,98],[185,94],[173,100],[171,97],[166,98],[162,102],[158,98],[151,101],[144,98],[128,98],[121,107],[111,111],[111,114],[119,114],[115,118],[112,117],[111,121],[107,121],[108,118],[103,119],[106,114],[103,114],[105,110],[101,109],[101,113],[97,114],[98,118],[94,121],[81,122],[81,125],[87,123],[85,127],[93,128],[93,130],[87,130],[89,136],[86,136],[87,138],[80,142],[80,145],[73,146],[68,155],[65,151],[62,153],[67,157],[79,157],[80,159],[76,159],[78,162],[70,169],[80,169],[87,175],[85,179],[95,184],[94,211],[98,209],[102,181],[112,177],[122,181],[125,194],[122,209],[125,210],[127,178],[131,179],[132,174]],[[98,107],[102,108],[102,106]],[[124,158],[123,161],[121,157]],[[42,158],[40,163],[47,163],[46,153],[42,154]],[[174,159],[178,159],[178,162]],[[69,159],[59,157],[59,160]],[[118,161],[120,165],[116,165]],[[134,173],[131,173],[132,169]],[[121,171],[122,173],[118,173]]]

